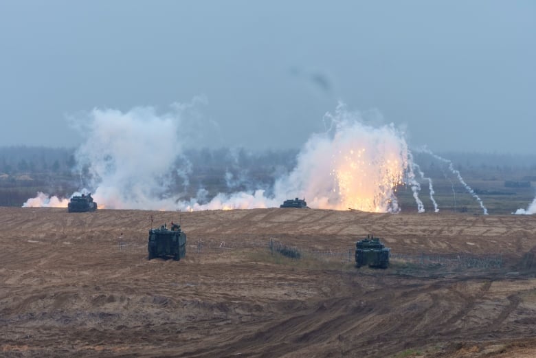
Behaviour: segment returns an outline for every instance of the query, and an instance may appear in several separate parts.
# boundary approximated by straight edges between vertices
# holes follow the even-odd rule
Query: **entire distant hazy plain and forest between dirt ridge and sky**
[[[295,167],[298,150],[280,150],[249,153],[247,150],[191,150],[187,153],[191,164],[188,185],[175,175],[170,194],[181,193],[181,199],[196,197],[199,188],[208,191],[208,198],[219,192],[253,192],[266,190],[270,195],[276,178]],[[447,153],[454,168],[459,170],[468,186],[473,189],[489,214],[511,214],[527,208],[536,196],[536,157],[513,155],[479,155]],[[467,212],[482,214],[478,201],[469,194],[456,175],[429,155],[416,153],[415,161],[421,165],[426,177],[431,177],[434,199],[440,212]],[[50,148],[0,148],[0,206],[21,206],[37,192],[69,197],[87,186],[88,178],[74,172],[74,150]],[[181,163],[177,163],[179,166]],[[177,167],[178,168],[178,167]],[[143,170],[143,168],[140,168]],[[225,180],[233,179],[232,187]],[[419,179],[417,176],[416,179]],[[427,180],[419,179],[418,197],[426,212],[434,212],[429,198]],[[509,188],[505,181],[530,181],[528,188]],[[127,193],[128,194],[128,193]],[[289,196],[299,195],[298,193]],[[410,186],[397,188],[397,200],[403,213],[417,212],[416,201]],[[309,198],[305,198],[309,199]]]

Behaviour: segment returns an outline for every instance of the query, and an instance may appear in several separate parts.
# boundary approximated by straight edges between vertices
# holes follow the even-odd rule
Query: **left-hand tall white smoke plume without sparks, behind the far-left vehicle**
[[[99,208],[172,209],[169,197],[175,160],[181,155],[179,124],[184,107],[157,115],[152,108],[126,113],[93,109],[76,124],[86,140],[76,151],[78,170],[87,170],[93,199]],[[187,166],[184,173],[190,168]],[[177,175],[181,173],[177,172]],[[67,199],[43,194],[23,206],[67,206]]]

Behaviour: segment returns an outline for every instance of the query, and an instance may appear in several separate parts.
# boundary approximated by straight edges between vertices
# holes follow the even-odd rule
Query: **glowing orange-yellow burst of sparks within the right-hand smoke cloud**
[[[371,128],[341,122],[333,137],[331,176],[337,194],[334,209],[397,212],[394,191],[407,169],[407,146],[392,127]]]

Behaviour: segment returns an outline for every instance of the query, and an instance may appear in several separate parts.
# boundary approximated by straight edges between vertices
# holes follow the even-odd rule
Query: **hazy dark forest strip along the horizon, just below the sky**
[[[188,160],[198,170],[212,168],[256,169],[267,167],[292,168],[298,149],[254,151],[245,148],[201,148],[185,150],[177,161]],[[438,153],[463,170],[536,170],[536,155],[504,153]],[[425,153],[414,153],[416,163],[425,171],[438,166],[437,159]],[[43,146],[0,146],[0,173],[24,174],[36,172],[67,173],[76,167],[76,148],[49,148]]]

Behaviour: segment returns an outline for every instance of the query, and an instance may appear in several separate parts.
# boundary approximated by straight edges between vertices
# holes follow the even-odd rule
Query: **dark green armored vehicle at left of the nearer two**
[[[179,224],[171,223],[170,230],[166,224],[161,225],[159,229],[149,230],[147,249],[149,260],[167,256],[180,260],[186,256],[186,234],[181,231]]]

